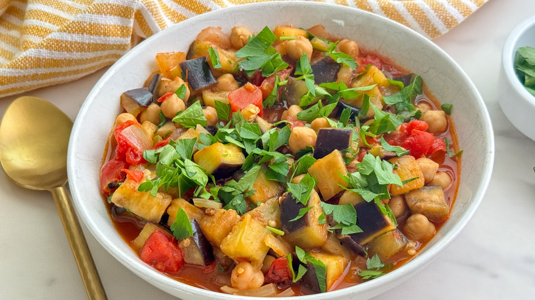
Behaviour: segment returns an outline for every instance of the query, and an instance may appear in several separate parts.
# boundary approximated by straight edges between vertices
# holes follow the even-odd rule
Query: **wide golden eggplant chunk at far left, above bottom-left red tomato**
[[[150,195],[150,192],[137,190],[138,186],[138,183],[127,178],[113,193],[112,203],[148,221],[159,223],[167,206],[171,203],[171,196],[158,192],[154,197]]]

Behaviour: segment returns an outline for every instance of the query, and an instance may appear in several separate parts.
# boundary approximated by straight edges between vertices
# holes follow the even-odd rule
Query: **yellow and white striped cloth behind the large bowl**
[[[488,0],[323,1],[436,38]],[[84,77],[171,24],[250,2],[259,0],[0,0],[0,97]]]

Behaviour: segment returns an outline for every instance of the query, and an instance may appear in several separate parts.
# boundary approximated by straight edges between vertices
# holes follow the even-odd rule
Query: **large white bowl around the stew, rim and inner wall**
[[[413,275],[459,234],[475,212],[488,185],[494,160],[494,140],[484,102],[470,79],[440,48],[423,36],[387,18],[340,5],[311,2],[270,2],[239,5],[182,21],[145,40],[115,63],[88,95],[73,126],[69,144],[69,185],[75,208],[95,238],[119,262],[150,284],[180,299],[246,299],[182,284],[148,266],[123,241],[112,225],[99,194],[99,167],[106,138],[120,112],[119,96],[143,85],[156,70],[154,55],[186,51],[204,27],[221,26],[226,32],[245,25],[259,32],[265,25],[291,23],[356,40],[359,45],[390,58],[423,77],[442,103],[453,103],[453,120],[462,155],[460,186],[449,220],[438,235],[411,262],[370,282],[300,299],[368,299]],[[445,283],[446,284],[446,283]]]

